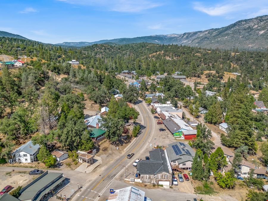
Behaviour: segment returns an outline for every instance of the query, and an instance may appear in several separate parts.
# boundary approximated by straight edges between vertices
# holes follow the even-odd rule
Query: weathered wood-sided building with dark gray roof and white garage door
[[[137,164],[137,174],[141,183],[171,186],[172,169],[166,150],[158,148],[149,151],[149,158]]]

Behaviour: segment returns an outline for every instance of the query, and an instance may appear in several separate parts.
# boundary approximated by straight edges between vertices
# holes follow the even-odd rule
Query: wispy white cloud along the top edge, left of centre
[[[68,4],[87,5],[105,7],[107,10],[121,13],[138,13],[142,10],[147,10],[161,6],[160,3],[155,3],[149,0],[57,0]]]

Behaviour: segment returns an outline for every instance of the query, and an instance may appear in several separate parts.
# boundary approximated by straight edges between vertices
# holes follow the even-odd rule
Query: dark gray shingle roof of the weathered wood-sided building
[[[139,174],[169,173],[166,155],[163,149],[155,149],[149,152],[150,160],[142,160],[137,164]]]

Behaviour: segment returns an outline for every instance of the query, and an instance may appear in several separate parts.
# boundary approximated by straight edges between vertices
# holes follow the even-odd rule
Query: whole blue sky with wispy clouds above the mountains
[[[1,0],[0,30],[44,43],[184,33],[268,14],[267,0]]]

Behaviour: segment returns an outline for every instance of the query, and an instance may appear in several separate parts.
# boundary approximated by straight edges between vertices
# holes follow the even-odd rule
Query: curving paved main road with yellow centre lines
[[[113,179],[124,171],[125,166],[132,164],[136,158],[138,158],[144,149],[149,144],[150,138],[152,138],[152,131],[154,130],[155,122],[152,115],[147,110],[143,102],[135,105],[137,110],[140,112],[140,117],[143,119],[144,129],[141,131],[141,134],[138,136],[137,140],[133,145],[120,157],[116,158],[110,166],[108,166],[103,172],[99,172],[99,177],[91,180],[82,188],[82,190],[77,193],[72,200],[98,200],[99,198],[105,199],[106,197],[102,196],[104,191],[110,187],[110,184],[113,182]],[[128,152],[133,152],[135,155],[131,159],[127,159],[126,155]],[[92,172],[92,174],[94,174]],[[96,174],[96,173],[95,173]],[[90,177],[91,173],[88,174]]]

